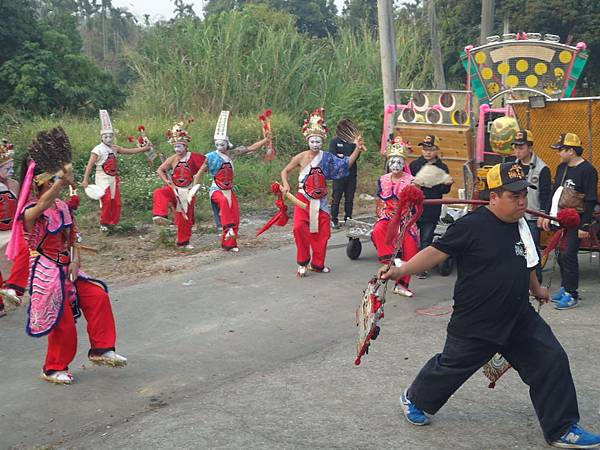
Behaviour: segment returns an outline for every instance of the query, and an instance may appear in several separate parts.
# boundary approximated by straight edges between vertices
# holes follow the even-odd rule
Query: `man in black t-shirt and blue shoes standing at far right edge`
[[[559,249],[558,253],[561,288],[552,295],[552,301],[556,302],[556,309],[563,310],[574,308],[579,302],[577,251],[579,240],[590,234],[592,214],[598,201],[598,172],[581,156],[583,147],[576,134],[561,134],[558,142],[551,147],[558,150],[561,163],[556,168],[550,214],[556,215],[563,208],[575,208],[581,217],[579,229],[567,231],[566,248]],[[547,219],[541,225],[544,230],[550,229],[550,221]]]

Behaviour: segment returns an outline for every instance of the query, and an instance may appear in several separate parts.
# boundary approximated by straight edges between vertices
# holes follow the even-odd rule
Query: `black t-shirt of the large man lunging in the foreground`
[[[456,258],[450,334],[503,344],[519,317],[532,308],[525,246],[517,223],[478,208],[432,244]]]

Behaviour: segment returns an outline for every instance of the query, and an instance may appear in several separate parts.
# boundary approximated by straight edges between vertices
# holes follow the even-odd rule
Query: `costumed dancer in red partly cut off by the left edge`
[[[19,196],[19,183],[14,176],[14,149],[6,139],[0,140],[0,248],[10,240],[17,198]],[[6,315],[4,299],[10,300],[15,305],[20,305],[20,297],[25,292],[27,278],[29,277],[29,252],[26,248],[17,255],[9,277],[4,280],[0,273],[0,317]]]

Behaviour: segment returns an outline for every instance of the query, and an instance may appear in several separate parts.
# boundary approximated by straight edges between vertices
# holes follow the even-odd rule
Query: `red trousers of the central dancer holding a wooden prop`
[[[306,209],[294,206],[294,240],[296,241],[296,262],[299,266],[306,266],[310,262],[317,270],[325,267],[327,242],[331,237],[331,224],[329,214],[319,210],[319,231],[310,232],[308,199],[300,192],[296,194],[300,200],[307,204]],[[311,256],[312,250],[312,256]]]

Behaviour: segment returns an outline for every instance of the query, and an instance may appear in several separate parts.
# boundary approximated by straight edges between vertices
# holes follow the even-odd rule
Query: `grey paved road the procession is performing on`
[[[130,364],[91,366],[82,321],[68,387],[36,379],[45,340],[25,336],[24,312],[2,319],[0,447],[547,448],[516,373],[495,390],[476,374],[430,427],[404,421],[397,397],[447,323],[416,309],[450,305],[453,280],[415,280],[415,299],[388,295],[382,337],[354,367],[354,308],[377,263],[369,244],[348,260],[344,243],[331,241],[331,274],[303,280],[288,246],[115,286],[118,350]],[[582,423],[600,431],[600,265],[581,261],[582,306],[542,314],[569,353]]]

